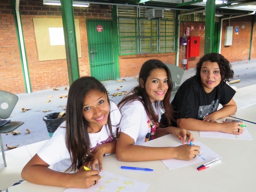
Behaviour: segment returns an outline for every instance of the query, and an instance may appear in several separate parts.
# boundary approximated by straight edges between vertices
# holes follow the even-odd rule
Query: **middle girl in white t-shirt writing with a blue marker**
[[[185,129],[171,127],[173,110],[170,106],[171,73],[161,61],[150,59],[139,74],[139,85],[121,100],[118,107],[122,114],[121,133],[116,144],[119,161],[153,161],[161,159],[190,160],[199,154],[199,146],[189,144],[178,147],[145,147],[139,144],[169,133],[183,140],[193,140]],[[161,109],[168,119],[167,128],[159,128]]]

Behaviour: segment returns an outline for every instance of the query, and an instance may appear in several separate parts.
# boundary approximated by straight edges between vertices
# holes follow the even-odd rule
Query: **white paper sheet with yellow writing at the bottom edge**
[[[101,179],[89,189],[68,188],[64,192],[145,192],[149,184],[102,171]]]

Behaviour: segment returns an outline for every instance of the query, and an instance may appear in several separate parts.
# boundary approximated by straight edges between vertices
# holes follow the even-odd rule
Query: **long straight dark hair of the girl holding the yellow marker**
[[[106,93],[107,90],[94,77],[81,77],[72,83],[69,88],[66,105],[66,147],[71,157],[71,166],[67,169],[76,170],[85,161],[91,161],[90,138],[88,134],[89,123],[83,117],[83,102],[86,94],[91,90]],[[109,97],[107,95],[109,103]],[[110,112],[107,118],[108,134],[114,137],[112,132]]]

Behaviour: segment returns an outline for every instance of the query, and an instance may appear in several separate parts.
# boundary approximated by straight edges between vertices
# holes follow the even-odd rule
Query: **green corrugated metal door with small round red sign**
[[[112,21],[88,19],[86,25],[91,76],[114,80]]]

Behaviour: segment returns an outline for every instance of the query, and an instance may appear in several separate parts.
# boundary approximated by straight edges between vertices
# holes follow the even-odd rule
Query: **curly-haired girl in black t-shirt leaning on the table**
[[[232,99],[235,90],[225,83],[232,77],[230,62],[222,55],[209,53],[201,57],[196,66],[196,75],[180,86],[171,102],[177,126],[187,130],[219,131],[235,135],[243,133],[238,123],[216,122],[237,111]],[[219,110],[218,104],[223,106]],[[168,126],[164,114],[161,123]]]

